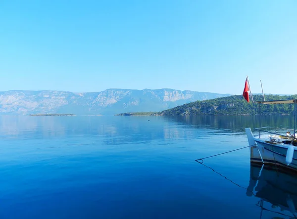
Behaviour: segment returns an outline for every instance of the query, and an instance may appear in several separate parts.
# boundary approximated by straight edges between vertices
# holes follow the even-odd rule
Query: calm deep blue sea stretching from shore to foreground
[[[259,174],[248,148],[195,161],[248,146],[244,129],[258,126],[249,116],[2,116],[0,218],[294,218],[297,179]]]

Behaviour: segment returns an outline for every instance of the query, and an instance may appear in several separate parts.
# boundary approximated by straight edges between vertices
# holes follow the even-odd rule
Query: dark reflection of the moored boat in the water
[[[280,210],[286,216],[297,218],[296,174],[275,169],[273,166],[251,163],[247,196],[253,195],[261,198],[257,205],[262,210],[278,212]]]

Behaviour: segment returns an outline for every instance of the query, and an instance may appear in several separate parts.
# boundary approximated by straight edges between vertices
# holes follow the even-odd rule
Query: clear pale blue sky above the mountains
[[[0,90],[297,93],[296,0],[1,0]]]

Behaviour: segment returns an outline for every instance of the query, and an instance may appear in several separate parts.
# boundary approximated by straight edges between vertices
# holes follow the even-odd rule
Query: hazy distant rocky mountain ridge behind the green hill
[[[122,112],[159,112],[197,100],[230,96],[176,89],[106,89],[100,92],[55,90],[0,91],[0,115],[65,113],[114,115]]]

